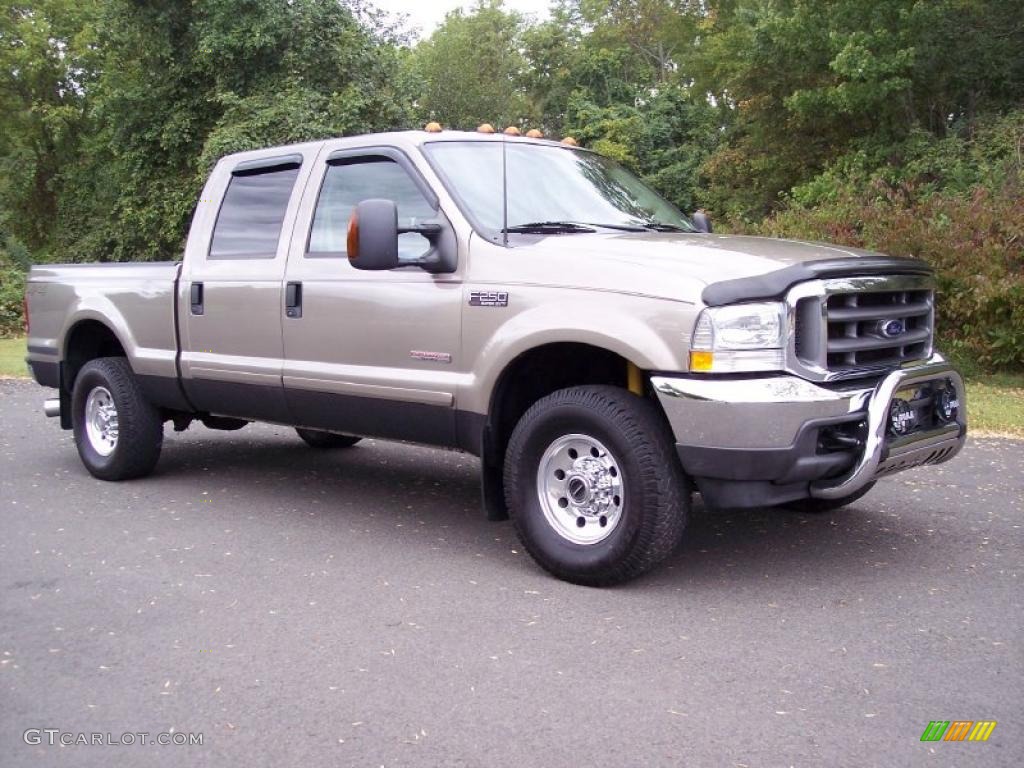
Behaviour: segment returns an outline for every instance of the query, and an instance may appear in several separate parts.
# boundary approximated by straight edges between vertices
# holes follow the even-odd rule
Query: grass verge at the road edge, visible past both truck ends
[[[971,433],[1024,437],[1024,373],[986,374],[957,362],[967,377]],[[0,378],[27,377],[25,339],[0,339]]]

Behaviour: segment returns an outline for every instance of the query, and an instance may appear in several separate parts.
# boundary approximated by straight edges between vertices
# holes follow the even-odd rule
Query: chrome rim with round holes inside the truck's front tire
[[[544,452],[537,495],[555,532],[581,545],[607,539],[626,506],[618,461],[600,440],[585,434],[559,437]]]

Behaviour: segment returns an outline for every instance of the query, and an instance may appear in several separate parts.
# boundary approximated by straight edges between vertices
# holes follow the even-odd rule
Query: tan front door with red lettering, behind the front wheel
[[[399,226],[424,220],[455,233],[436,195],[395,147],[344,150],[318,163],[303,200],[286,282],[299,299],[285,318],[284,383],[304,426],[451,444],[459,380],[462,279],[416,266],[355,269],[346,253],[352,209],[392,200]],[[429,249],[399,236],[399,256]],[[462,265],[460,265],[460,269]]]

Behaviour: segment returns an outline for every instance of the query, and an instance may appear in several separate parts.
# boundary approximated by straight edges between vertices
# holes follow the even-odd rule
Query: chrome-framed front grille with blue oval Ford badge
[[[932,354],[934,283],[927,275],[846,278],[791,291],[795,368],[850,378]]]

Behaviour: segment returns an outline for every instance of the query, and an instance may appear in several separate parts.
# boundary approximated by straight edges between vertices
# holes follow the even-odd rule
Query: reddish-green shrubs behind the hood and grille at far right
[[[915,137],[892,165],[858,153],[756,227],[916,256],[939,274],[940,337],[987,368],[1024,368],[1024,112],[971,142]]]

